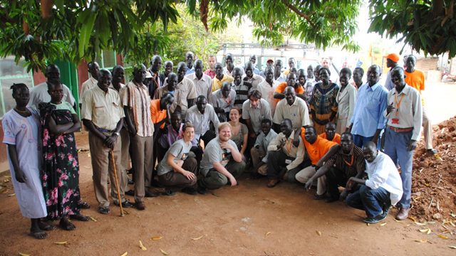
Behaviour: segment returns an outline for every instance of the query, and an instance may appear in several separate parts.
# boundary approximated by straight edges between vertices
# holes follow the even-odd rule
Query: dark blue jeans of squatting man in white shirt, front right
[[[361,186],[358,191],[347,196],[347,206],[365,210],[369,218],[374,218],[383,211],[383,206],[390,205],[390,192],[385,188],[372,189],[368,186]]]

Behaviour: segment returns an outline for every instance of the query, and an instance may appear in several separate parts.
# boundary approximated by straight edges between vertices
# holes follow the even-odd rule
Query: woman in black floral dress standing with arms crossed
[[[51,102],[40,106],[43,125],[43,192],[49,220],[60,220],[64,230],[75,230],[72,219],[87,221],[81,215],[78,151],[73,132],[81,129],[76,112],[62,102],[63,87],[48,82]]]

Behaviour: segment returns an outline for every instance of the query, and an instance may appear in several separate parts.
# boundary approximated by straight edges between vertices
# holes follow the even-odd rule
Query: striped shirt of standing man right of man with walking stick
[[[154,124],[150,114],[150,96],[147,87],[131,80],[123,87],[122,102],[124,107],[130,108],[130,116],[138,136],[151,137],[154,133]]]

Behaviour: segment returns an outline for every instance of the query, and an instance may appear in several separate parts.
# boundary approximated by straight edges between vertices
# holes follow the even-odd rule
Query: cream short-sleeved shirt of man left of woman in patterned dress
[[[288,118],[293,123],[293,130],[308,125],[314,125],[309,117],[309,109],[306,102],[300,97],[296,97],[293,104],[290,106],[286,99],[280,100],[276,106],[274,114],[274,124],[280,124],[283,119]]]

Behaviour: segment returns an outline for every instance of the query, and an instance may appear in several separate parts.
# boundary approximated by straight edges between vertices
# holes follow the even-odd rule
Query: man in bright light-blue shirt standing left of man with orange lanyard
[[[380,67],[371,65],[368,69],[368,83],[358,90],[355,111],[351,117],[350,132],[353,143],[362,147],[366,142],[374,142],[377,146],[380,132],[385,128],[388,90],[378,82]]]

